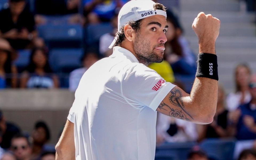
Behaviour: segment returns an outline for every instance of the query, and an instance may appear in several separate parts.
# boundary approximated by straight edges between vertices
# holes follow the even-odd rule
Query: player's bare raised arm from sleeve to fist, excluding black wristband
[[[215,41],[219,35],[220,21],[210,14],[205,15],[201,12],[195,18],[192,28],[199,39],[199,54],[215,54]],[[210,64],[201,65],[208,70],[211,68]],[[212,75],[212,73],[208,74]],[[195,78],[190,95],[179,87],[174,87],[159,104],[157,111],[199,124],[211,123],[217,106],[218,81],[206,77],[201,74],[200,77]]]

